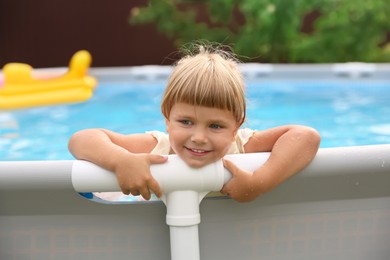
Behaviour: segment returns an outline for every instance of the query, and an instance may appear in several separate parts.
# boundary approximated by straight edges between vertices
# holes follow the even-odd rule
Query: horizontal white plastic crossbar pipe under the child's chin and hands
[[[233,161],[240,168],[248,171],[253,171],[260,167],[268,157],[269,153],[225,156],[225,158]],[[150,169],[164,193],[194,189],[204,192],[217,191],[221,189],[223,183],[231,178],[230,172],[223,167],[221,161],[200,169],[194,169],[176,155],[169,155],[167,163],[154,164]],[[210,172],[216,172],[216,175],[210,174]],[[78,192],[120,190],[114,173],[82,160],[73,162],[72,184]]]

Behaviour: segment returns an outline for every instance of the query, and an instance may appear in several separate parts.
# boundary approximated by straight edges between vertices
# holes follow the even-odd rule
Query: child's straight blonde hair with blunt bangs
[[[173,68],[161,112],[169,118],[176,103],[219,108],[232,112],[241,125],[246,116],[246,100],[237,60],[221,46],[196,47],[196,53],[185,56]]]

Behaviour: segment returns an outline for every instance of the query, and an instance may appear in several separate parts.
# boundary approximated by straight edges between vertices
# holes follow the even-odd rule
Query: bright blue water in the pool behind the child
[[[164,84],[101,83],[85,103],[0,111],[0,160],[72,159],[68,139],[84,128],[164,131]],[[249,83],[244,126],[309,125],[322,135],[321,147],[390,143],[389,90],[388,81]]]

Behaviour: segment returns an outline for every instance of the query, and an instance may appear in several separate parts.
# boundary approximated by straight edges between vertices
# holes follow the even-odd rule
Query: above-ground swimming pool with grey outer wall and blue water
[[[348,64],[335,67],[245,67],[249,91],[254,91],[252,84],[264,86],[256,89],[261,99],[250,97],[247,126],[309,124],[323,135],[322,148],[304,172],[251,203],[204,200],[200,205],[201,259],[388,259],[390,145],[326,147],[388,143],[390,66],[375,65],[375,70],[365,64],[352,66],[353,70]],[[87,103],[1,113],[2,160],[9,154],[6,160],[50,159],[0,162],[1,259],[171,259],[162,203],[106,205],[86,200],[71,181],[78,161],[64,160],[71,158],[66,150],[69,135],[81,128],[107,127],[124,133],[163,130],[156,112],[162,86],[155,83],[164,82],[168,70],[92,70],[100,86]],[[139,97],[147,97],[139,110],[142,115],[128,108],[132,100],[121,101],[129,85],[138,86],[133,90],[136,94],[147,88],[147,95]],[[299,88],[294,90],[293,85]],[[299,93],[290,99],[295,92]],[[111,110],[113,106],[103,102],[106,97],[114,98],[123,111]],[[97,103],[105,105],[98,109]],[[254,109],[257,105],[260,110]],[[157,117],[144,116],[147,108],[152,111],[150,117]],[[282,112],[280,117],[277,112]],[[136,118],[135,124],[123,120],[126,117]],[[109,125],[108,119],[119,124]],[[367,141],[366,136],[374,138]],[[329,142],[333,137],[337,141]],[[33,154],[23,155],[30,146],[36,149],[29,150]]]

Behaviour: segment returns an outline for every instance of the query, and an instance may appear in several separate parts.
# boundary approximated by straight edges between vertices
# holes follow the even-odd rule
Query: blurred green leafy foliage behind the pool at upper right
[[[130,23],[152,23],[177,46],[231,45],[250,61],[389,62],[388,17],[388,0],[151,0]]]

